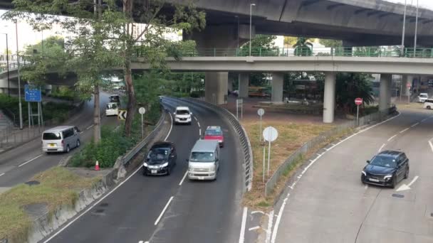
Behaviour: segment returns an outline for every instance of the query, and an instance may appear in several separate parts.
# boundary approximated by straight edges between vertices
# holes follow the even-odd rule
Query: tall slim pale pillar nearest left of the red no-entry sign
[[[333,123],[335,109],[335,72],[325,72],[323,95],[323,123]]]

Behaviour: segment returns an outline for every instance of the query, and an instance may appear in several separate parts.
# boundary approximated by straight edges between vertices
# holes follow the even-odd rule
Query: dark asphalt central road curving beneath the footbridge
[[[164,100],[174,112],[179,104]],[[239,141],[230,124],[199,106],[191,126],[173,126],[167,140],[177,148],[177,166],[169,176],[144,176],[142,169],[102,201],[44,242],[238,242],[243,191]],[[217,180],[189,181],[189,151],[206,126],[225,132]],[[200,131],[201,129],[201,131]]]

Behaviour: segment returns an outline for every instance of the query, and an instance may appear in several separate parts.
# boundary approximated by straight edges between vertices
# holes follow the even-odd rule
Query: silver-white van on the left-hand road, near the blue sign
[[[42,151],[66,152],[80,146],[80,130],[76,126],[56,126],[43,131]]]

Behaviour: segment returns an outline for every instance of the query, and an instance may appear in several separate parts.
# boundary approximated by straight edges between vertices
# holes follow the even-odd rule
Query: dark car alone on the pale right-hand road
[[[409,176],[409,159],[400,151],[382,151],[367,163],[361,171],[362,183],[395,188]]]

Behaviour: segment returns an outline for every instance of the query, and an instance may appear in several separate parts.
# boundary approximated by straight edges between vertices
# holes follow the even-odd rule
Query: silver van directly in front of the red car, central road
[[[187,161],[189,180],[216,180],[219,170],[218,141],[197,141]]]

